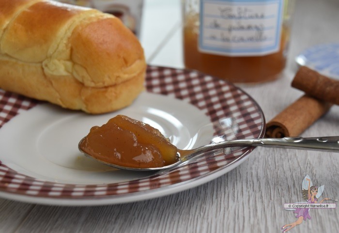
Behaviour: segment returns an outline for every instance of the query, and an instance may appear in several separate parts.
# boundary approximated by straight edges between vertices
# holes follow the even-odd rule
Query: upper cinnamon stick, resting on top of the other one
[[[339,104],[339,80],[328,78],[306,66],[295,74],[292,87],[319,100]]]

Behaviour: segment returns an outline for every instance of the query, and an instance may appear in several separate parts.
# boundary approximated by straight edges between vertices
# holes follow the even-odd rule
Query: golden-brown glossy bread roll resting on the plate
[[[99,114],[131,104],[146,62],[120,19],[51,0],[0,0],[0,88]]]

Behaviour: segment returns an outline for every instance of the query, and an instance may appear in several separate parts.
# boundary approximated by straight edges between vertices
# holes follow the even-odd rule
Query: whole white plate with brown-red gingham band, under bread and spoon
[[[117,170],[78,152],[79,140],[92,126],[118,114],[152,125],[181,149],[208,144],[213,138],[263,135],[264,118],[259,106],[227,82],[193,71],[149,67],[145,85],[147,92],[131,106],[104,115],[88,115],[48,103],[38,103],[27,111],[23,109],[30,99],[2,92],[7,105],[13,106],[13,99],[20,98],[22,104],[13,111],[20,114],[7,116],[10,121],[2,122],[0,129],[0,196],[58,205],[144,200],[225,174],[253,149],[225,154],[219,151],[214,157],[206,154],[188,165],[155,175]],[[6,104],[2,112],[8,109]]]

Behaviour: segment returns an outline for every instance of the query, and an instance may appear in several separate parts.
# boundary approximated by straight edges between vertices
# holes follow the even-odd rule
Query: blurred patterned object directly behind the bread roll
[[[115,15],[139,37],[143,0],[58,0]]]

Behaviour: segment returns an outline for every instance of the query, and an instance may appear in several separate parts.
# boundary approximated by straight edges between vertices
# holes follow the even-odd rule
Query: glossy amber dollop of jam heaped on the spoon
[[[159,130],[123,115],[92,127],[79,147],[97,160],[125,167],[163,167],[178,161],[178,149]]]

